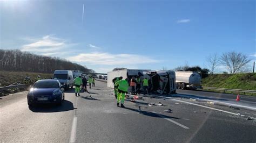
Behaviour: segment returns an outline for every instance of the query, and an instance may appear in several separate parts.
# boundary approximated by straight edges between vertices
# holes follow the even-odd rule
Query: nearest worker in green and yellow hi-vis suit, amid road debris
[[[125,78],[125,80],[119,80],[114,84],[115,87],[118,88],[117,92],[117,106],[119,106],[120,99],[121,99],[121,107],[124,108],[124,99],[125,99],[125,94],[128,93],[128,78]]]

